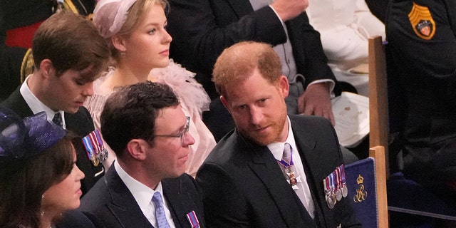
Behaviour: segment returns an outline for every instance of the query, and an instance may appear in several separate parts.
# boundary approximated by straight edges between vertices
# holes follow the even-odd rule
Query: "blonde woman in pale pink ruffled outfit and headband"
[[[195,144],[190,145],[186,172],[195,176],[215,145],[212,133],[202,122],[202,112],[209,108],[209,97],[186,71],[169,58],[172,38],[167,33],[163,0],[102,0],[93,16],[95,26],[108,40],[115,68],[95,81],[95,94],[84,104],[90,111],[95,128],[100,129],[100,113],[105,100],[118,86],[128,86],[143,81],[156,81],[170,86],[180,99],[185,115],[190,116],[190,134]],[[152,70],[153,69],[153,70]],[[105,166],[115,159],[110,150]]]

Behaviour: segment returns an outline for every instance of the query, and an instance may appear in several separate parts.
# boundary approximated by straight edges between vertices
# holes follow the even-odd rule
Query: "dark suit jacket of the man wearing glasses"
[[[199,224],[205,227],[202,200],[193,177],[184,174],[162,180],[162,188],[177,228],[191,227],[186,214],[192,211],[195,211]],[[115,171],[114,165],[82,198],[80,209],[86,214],[92,214],[104,227],[152,227]]]

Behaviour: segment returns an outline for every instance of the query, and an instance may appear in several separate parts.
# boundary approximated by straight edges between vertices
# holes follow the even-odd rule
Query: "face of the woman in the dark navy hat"
[[[73,148],[73,170],[61,182],[48,188],[43,194],[41,210],[46,215],[57,215],[79,207],[81,180],[84,173],[76,166],[76,150]]]

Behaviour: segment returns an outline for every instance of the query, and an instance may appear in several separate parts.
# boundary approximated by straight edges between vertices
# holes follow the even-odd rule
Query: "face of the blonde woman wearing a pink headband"
[[[149,72],[163,68],[169,63],[172,38],[166,31],[167,19],[160,4],[154,4],[145,12],[138,28],[128,37],[115,36],[113,44],[125,56],[120,66],[127,65],[132,71]]]

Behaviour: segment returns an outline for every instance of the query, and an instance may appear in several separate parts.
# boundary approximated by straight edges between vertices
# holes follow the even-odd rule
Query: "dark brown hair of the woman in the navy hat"
[[[0,227],[39,227],[43,193],[73,169],[72,140],[67,135],[40,155],[0,167]]]

